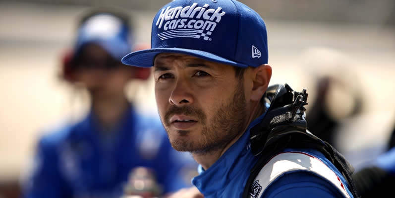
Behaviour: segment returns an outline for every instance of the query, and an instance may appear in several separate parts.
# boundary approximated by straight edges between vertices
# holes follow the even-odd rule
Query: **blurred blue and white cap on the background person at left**
[[[86,44],[97,44],[120,61],[131,51],[130,36],[129,26],[121,18],[105,12],[95,14],[78,29],[74,57]]]

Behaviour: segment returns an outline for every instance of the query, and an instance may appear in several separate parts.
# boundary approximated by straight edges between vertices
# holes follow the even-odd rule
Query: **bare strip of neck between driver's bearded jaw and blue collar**
[[[231,141],[229,141],[229,143],[227,143],[224,148],[203,154],[192,153],[192,157],[195,159],[197,163],[202,165],[204,170],[207,170],[218,159],[220,159],[220,157],[226,152],[226,150],[230,148],[230,146],[232,146],[244,134],[244,132],[248,129],[250,123],[254,121],[256,118],[258,118],[260,115],[262,115],[264,112],[265,110],[264,108],[262,108],[259,102],[251,104],[251,113],[242,132],[240,132],[236,137],[234,137]]]

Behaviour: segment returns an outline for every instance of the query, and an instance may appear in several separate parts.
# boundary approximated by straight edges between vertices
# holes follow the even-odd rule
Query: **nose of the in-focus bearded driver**
[[[177,79],[175,87],[171,92],[169,103],[176,106],[191,104],[194,102],[191,87],[183,79]]]

